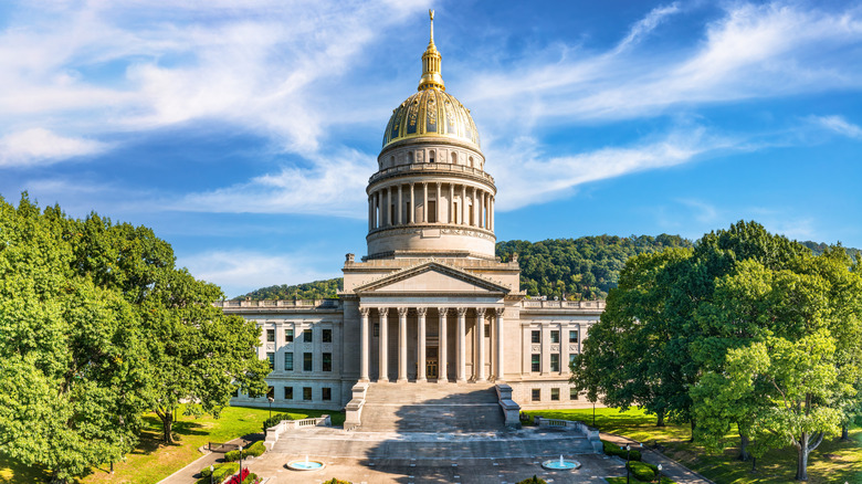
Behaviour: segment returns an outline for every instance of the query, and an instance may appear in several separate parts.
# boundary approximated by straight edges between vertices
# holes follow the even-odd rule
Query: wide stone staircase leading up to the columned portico
[[[491,383],[371,383],[356,430],[496,432],[504,419]]]

